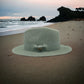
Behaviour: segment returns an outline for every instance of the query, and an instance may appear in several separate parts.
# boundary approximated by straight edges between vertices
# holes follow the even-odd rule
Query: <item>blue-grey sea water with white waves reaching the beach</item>
[[[44,21],[20,21],[13,19],[0,19],[0,36],[24,33],[32,27],[47,26],[52,23]]]

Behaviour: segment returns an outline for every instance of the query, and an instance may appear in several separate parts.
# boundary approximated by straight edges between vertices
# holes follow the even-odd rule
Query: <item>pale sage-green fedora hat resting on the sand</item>
[[[12,49],[12,52],[23,56],[56,56],[67,54],[72,48],[60,43],[59,31],[47,27],[28,29],[24,33],[24,44]]]

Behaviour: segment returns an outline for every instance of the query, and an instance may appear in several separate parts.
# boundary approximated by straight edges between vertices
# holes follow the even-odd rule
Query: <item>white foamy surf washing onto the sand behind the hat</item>
[[[18,33],[24,33],[26,30],[32,28],[32,27],[42,27],[42,26],[47,26],[52,23],[44,23],[44,22],[23,22],[23,24],[19,22],[19,24],[11,24],[11,22],[8,25],[7,28],[0,28],[0,36],[5,36],[5,35],[12,35],[12,34],[18,34]]]

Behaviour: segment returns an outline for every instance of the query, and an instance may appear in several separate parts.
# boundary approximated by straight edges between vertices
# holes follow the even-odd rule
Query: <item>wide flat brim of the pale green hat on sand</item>
[[[17,46],[12,49],[12,52],[23,56],[44,57],[44,56],[57,56],[67,54],[72,51],[70,46],[60,45],[60,49],[56,51],[34,52],[24,50],[24,45]]]

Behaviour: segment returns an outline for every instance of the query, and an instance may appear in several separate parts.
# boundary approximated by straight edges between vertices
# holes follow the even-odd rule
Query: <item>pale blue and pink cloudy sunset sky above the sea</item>
[[[84,0],[0,0],[0,18],[57,16],[60,6],[84,7]]]

